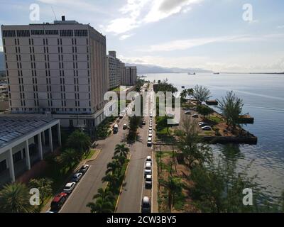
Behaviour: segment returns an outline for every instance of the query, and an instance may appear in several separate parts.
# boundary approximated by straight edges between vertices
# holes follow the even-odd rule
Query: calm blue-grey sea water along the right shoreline
[[[244,126],[258,136],[258,145],[214,145],[220,153],[243,169],[253,161],[249,175],[257,175],[262,192],[275,199],[284,190],[284,75],[276,74],[144,74],[150,81],[165,78],[182,91],[182,86],[208,87],[212,99],[234,91],[244,100],[244,114],[255,118]]]

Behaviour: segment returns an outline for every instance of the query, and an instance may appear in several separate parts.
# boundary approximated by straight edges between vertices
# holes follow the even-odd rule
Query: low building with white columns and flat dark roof
[[[0,184],[14,182],[61,146],[60,121],[46,115],[0,114]]]

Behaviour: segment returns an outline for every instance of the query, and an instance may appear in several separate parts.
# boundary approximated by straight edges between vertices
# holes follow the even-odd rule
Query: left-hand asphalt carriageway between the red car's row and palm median
[[[102,177],[105,176],[107,164],[111,162],[116,144],[123,142],[124,133],[126,135],[126,131],[122,128],[124,123],[127,123],[126,116],[119,123],[119,133],[111,135],[106,140],[98,141],[99,148],[102,150],[101,153],[99,153],[96,160],[87,163],[91,167],[80,183],[77,184],[77,187],[67,199],[60,213],[90,212],[86,205],[92,201],[94,194],[97,194],[97,190],[105,185],[102,183]]]

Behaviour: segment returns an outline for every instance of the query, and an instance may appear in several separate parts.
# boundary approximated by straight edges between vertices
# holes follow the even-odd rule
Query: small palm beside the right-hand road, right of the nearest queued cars
[[[175,196],[182,193],[182,183],[180,179],[169,176],[168,181],[163,181],[161,184],[168,190],[168,209],[172,212],[172,208],[175,206]]]

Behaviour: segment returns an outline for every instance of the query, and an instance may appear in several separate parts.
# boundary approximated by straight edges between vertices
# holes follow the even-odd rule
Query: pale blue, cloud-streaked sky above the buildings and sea
[[[220,72],[284,71],[283,0],[0,0],[0,24],[67,20],[107,35],[125,62]],[[40,6],[40,21],[30,6]],[[244,4],[252,18],[244,21]],[[53,10],[52,10],[53,8]],[[251,15],[251,14],[249,14]],[[0,43],[1,50],[1,43]]]

